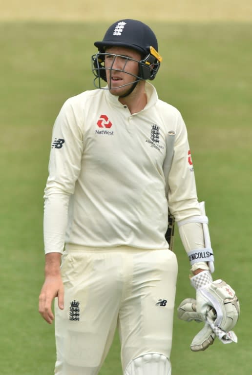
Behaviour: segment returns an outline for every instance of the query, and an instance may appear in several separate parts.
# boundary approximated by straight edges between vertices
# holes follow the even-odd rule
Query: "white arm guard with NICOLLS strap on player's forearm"
[[[191,216],[188,219],[179,221],[178,227],[181,227],[182,225],[189,224],[189,223],[202,223],[203,228],[203,234],[204,234],[204,244],[205,248],[203,249],[193,249],[188,252],[189,261],[191,266],[193,266],[195,263],[199,262],[207,262],[210,272],[214,272],[214,257],[213,257],[213,251],[211,248],[211,242],[210,242],[210,233],[208,229],[208,217],[206,216],[205,212],[205,202],[200,202],[200,210],[201,210],[201,216]]]

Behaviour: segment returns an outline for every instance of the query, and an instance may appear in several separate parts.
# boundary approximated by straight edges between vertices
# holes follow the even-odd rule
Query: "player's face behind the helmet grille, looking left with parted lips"
[[[130,48],[114,46],[106,49],[106,80],[111,94],[121,96],[130,89],[139,74],[140,60],[140,53]]]

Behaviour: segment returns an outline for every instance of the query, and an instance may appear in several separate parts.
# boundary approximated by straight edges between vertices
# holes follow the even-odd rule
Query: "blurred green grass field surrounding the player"
[[[144,21],[144,20],[143,20]],[[181,111],[206,201],[215,278],[236,290],[238,344],[189,344],[202,327],[174,319],[172,375],[252,374],[252,24],[148,22],[164,62],[153,82]],[[53,374],[53,327],[38,313],[42,210],[51,129],[68,97],[92,89],[93,41],[110,23],[0,22],[0,374]],[[194,292],[178,236],[176,305]],[[116,335],[101,375],[120,375]]]

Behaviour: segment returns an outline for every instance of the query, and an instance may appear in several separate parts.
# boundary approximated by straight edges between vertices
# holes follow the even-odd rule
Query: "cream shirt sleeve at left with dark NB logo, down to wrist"
[[[70,100],[63,105],[53,127],[49,176],[44,191],[44,247],[62,252],[68,223],[69,198],[74,193],[83,152],[80,118]]]

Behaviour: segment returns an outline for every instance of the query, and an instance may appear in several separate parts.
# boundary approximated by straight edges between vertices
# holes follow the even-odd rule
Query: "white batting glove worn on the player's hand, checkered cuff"
[[[240,305],[231,286],[223,280],[212,281],[209,271],[191,277],[191,284],[196,289],[196,311],[205,316],[205,321],[222,342],[237,342],[231,329],[237,323]],[[207,316],[209,306],[216,312],[214,321]]]

